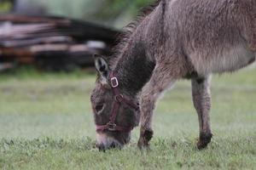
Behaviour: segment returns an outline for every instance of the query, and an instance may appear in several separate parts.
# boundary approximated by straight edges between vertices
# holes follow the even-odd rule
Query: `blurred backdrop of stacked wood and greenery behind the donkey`
[[[0,71],[73,71],[111,55],[120,29],[153,0],[1,0]]]

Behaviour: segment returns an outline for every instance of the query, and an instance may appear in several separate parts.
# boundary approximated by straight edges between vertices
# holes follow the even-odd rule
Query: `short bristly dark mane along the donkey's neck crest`
[[[143,22],[148,14],[151,14],[154,11],[154,8],[156,8],[161,1],[162,0],[156,0],[153,4],[149,4],[148,6],[141,8],[136,19],[125,26],[123,31],[117,35],[116,45],[113,47],[113,56],[108,59],[109,65],[113,65],[113,63],[119,59],[124,52],[124,48],[130,41],[131,35],[136,31],[137,26]]]

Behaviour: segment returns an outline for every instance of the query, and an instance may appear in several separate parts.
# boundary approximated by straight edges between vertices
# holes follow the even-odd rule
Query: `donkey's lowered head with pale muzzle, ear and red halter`
[[[96,55],[98,72],[90,101],[96,123],[97,147],[106,150],[121,148],[131,138],[131,130],[139,122],[138,99],[119,88],[119,77],[114,76],[108,60]]]

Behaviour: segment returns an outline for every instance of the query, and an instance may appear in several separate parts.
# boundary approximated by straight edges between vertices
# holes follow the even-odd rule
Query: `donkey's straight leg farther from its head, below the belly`
[[[211,77],[192,78],[192,96],[200,127],[200,138],[197,143],[199,150],[206,148],[212,139],[209,116],[211,109],[210,79]]]

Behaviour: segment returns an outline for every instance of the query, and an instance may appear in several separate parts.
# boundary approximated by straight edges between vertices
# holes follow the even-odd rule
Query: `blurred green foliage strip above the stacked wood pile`
[[[121,28],[154,0],[1,0],[3,13],[63,16]]]

